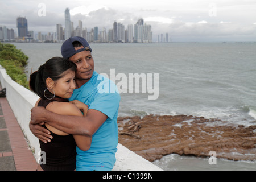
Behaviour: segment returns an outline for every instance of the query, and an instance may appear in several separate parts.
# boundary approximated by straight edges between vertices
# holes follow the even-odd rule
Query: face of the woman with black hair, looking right
[[[63,77],[57,80],[52,87],[56,96],[62,98],[70,98],[75,88],[75,72],[71,71],[70,69],[63,72]]]

